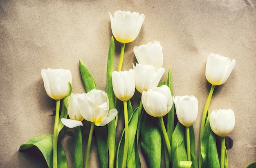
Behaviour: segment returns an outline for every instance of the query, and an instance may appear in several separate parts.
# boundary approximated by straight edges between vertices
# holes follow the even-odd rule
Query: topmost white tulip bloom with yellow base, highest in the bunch
[[[137,38],[144,22],[144,14],[130,11],[116,11],[114,17],[110,12],[111,29],[114,37],[120,43],[130,43]]]

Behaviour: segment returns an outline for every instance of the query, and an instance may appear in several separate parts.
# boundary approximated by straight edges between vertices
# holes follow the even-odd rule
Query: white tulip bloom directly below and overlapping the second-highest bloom
[[[137,63],[136,66],[133,64],[133,70],[135,75],[135,87],[140,93],[144,90],[148,91],[157,87],[164,74],[163,67],[156,70],[151,65],[141,65]]]

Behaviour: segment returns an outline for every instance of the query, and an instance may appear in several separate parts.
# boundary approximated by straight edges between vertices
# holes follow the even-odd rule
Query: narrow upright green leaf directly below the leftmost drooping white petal
[[[83,145],[81,127],[75,127],[74,133],[74,168],[83,168]]]

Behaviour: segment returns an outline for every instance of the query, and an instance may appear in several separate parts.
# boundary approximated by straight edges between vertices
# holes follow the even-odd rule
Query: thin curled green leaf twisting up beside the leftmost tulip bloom
[[[61,115],[58,120],[58,134],[61,132],[62,128],[64,127],[63,123],[61,122],[61,119],[67,118],[67,100],[70,97],[70,94],[72,93],[72,86],[71,83],[68,82],[68,85],[70,87],[70,92],[67,94],[67,96],[63,99],[62,103],[62,109],[61,109]]]

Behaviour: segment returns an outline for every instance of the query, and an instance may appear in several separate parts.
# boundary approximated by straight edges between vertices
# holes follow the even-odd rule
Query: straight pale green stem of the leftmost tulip
[[[57,146],[58,146],[58,120],[60,116],[60,102],[61,100],[56,100],[56,113],[54,121],[54,131],[53,131],[53,167],[58,167],[57,160]]]

